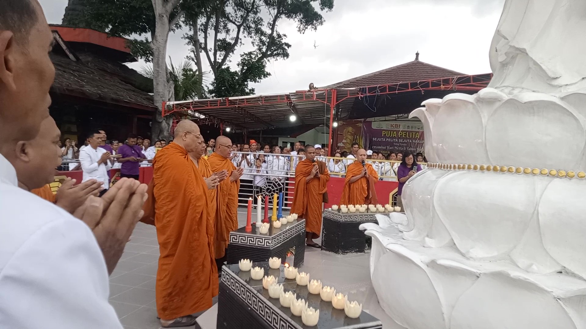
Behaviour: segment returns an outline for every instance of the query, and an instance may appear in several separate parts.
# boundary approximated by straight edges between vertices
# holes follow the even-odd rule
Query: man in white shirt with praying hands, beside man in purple
[[[86,181],[95,179],[97,181],[104,182],[104,190],[100,192],[100,196],[108,191],[110,187],[110,174],[109,170],[112,169],[112,163],[110,162],[110,152],[103,148],[99,148],[101,142],[101,133],[91,132],[87,136],[89,145],[87,148],[79,152],[79,162],[81,163],[81,170],[83,170],[83,179]]]

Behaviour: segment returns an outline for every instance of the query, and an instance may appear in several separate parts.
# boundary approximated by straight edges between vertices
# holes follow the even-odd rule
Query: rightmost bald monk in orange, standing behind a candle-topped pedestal
[[[376,204],[376,190],[374,184],[379,180],[379,175],[366,160],[366,150],[359,149],[356,152],[355,162],[346,169],[346,181],[340,204]]]

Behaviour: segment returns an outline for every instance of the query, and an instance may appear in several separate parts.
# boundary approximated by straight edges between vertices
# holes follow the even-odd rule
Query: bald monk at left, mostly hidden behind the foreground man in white
[[[12,161],[22,189],[56,203],[59,207],[73,214],[91,195],[97,196],[102,183],[88,180],[74,186],[75,180],[63,182],[57,195],[53,194],[49,183],[55,180],[57,167],[61,165],[60,148],[57,146],[61,132],[51,116],[47,116],[40,125],[39,133],[32,140],[16,144],[18,157]]]

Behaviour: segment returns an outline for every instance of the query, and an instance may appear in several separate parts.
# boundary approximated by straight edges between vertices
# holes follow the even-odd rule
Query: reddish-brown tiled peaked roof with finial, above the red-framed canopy
[[[321,88],[356,88],[369,85],[393,84],[464,75],[464,73],[427,64],[416,59],[405,64],[385,68],[384,70],[365,74],[364,76],[351,78]]]

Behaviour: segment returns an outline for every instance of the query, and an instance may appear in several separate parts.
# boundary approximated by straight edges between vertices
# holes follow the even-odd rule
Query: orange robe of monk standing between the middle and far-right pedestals
[[[305,159],[295,168],[295,195],[293,196],[292,214],[305,218],[305,231],[313,233],[313,239],[318,238],[322,229],[322,199],[323,193],[328,190],[329,172],[325,163],[323,173],[309,181],[306,178],[317,165]]]

